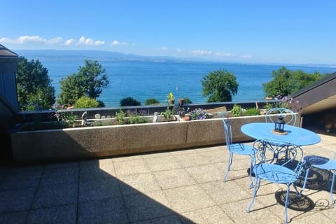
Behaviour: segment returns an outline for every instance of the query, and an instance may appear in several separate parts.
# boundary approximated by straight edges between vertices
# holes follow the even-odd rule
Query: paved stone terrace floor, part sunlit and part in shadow
[[[321,135],[306,154],[331,157],[336,137]],[[275,193],[262,183],[252,211],[249,158],[235,155],[223,182],[225,146],[120,158],[0,168],[0,223],[283,223]],[[306,209],[290,223],[336,223],[329,186],[304,190]],[[325,190],[327,189],[327,190]],[[309,202],[309,201],[308,201]],[[305,205],[306,204],[306,205]]]

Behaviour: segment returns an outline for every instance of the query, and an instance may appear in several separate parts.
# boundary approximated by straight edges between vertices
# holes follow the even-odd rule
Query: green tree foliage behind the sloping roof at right
[[[325,77],[318,72],[304,73],[302,70],[292,71],[281,66],[278,70],[272,71],[273,79],[268,83],[262,83],[262,87],[267,97],[288,96],[297,90],[311,85],[312,83]]]

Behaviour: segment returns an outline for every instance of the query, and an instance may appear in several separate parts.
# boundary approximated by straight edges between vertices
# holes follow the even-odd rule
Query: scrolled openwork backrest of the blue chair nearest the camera
[[[297,145],[288,144],[281,141],[259,139],[254,141],[253,147],[255,153],[252,155],[252,167],[262,167],[267,164],[276,166],[267,166],[267,172],[269,172],[269,179],[273,179],[274,182],[283,183],[283,176],[292,175],[291,179],[296,180],[299,178],[303,165],[304,165],[304,153],[302,148]],[[293,172],[286,172],[288,169]],[[258,172],[255,172],[258,175]]]

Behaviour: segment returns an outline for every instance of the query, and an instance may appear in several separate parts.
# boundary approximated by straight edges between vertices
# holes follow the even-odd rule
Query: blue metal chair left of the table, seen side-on
[[[228,151],[229,151],[228,168],[226,169],[226,173],[224,176],[224,182],[225,182],[230,172],[233,154],[251,156],[254,151],[253,151],[253,146],[250,146],[248,144],[239,144],[239,143],[235,144],[232,142],[232,124],[228,118],[223,118],[223,124],[224,124],[224,132],[225,132],[225,144],[226,144],[226,148],[228,148]],[[251,169],[249,173],[250,173],[250,178],[251,178]]]

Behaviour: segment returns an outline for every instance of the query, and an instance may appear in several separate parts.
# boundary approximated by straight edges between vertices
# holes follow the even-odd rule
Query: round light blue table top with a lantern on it
[[[273,130],[274,123],[248,123],[241,126],[241,132],[253,139],[274,139],[297,146],[314,145],[321,141],[318,134],[302,127],[285,125],[284,131],[287,134],[275,134]]]

